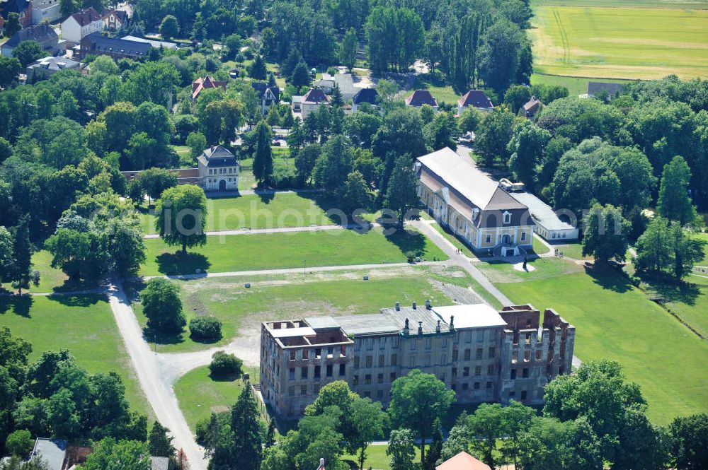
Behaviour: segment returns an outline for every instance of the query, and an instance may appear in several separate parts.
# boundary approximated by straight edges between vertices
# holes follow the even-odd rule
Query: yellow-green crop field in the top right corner
[[[708,10],[701,9],[707,7],[703,1],[539,1],[530,30],[534,69],[586,78],[708,76]]]

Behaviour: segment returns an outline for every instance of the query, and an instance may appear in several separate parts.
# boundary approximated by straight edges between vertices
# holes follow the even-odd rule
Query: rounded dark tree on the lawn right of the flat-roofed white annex
[[[595,262],[624,261],[632,224],[622,217],[618,208],[594,204],[583,223],[583,256],[592,254]]]

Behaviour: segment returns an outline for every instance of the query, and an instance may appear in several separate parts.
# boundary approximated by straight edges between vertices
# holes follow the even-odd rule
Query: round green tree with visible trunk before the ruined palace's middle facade
[[[442,419],[455,400],[455,392],[432,374],[418,369],[399,377],[391,387],[388,413],[394,426],[410,425],[421,437],[421,463],[426,462],[426,437],[432,431],[435,419]]]

